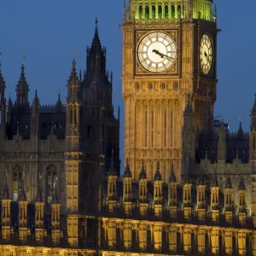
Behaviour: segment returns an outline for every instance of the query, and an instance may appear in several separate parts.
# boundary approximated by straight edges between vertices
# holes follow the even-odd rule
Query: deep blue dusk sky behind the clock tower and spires
[[[216,1],[222,32],[218,35],[218,100],[214,115],[222,115],[231,131],[237,130],[241,117],[244,130],[248,130],[256,91],[256,2],[251,1],[249,8],[238,0],[230,2]],[[102,44],[107,47],[108,69],[113,70],[113,103],[120,105],[123,113],[122,16],[122,0],[1,1],[0,51],[7,96],[10,92],[15,96],[24,53],[30,99],[38,89],[41,103],[55,103],[59,90],[64,100],[73,49],[77,50],[78,68],[84,70],[86,47],[91,44],[97,17]]]

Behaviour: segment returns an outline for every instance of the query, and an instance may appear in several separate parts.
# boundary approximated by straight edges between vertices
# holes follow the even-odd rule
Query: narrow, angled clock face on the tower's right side
[[[201,70],[204,74],[208,74],[212,68],[212,41],[207,34],[204,34],[201,38],[200,46],[200,62]]]

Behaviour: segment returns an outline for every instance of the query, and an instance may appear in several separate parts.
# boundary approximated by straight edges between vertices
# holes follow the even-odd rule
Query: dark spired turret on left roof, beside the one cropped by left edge
[[[24,64],[21,65],[21,73],[20,73],[20,80],[16,85],[16,104],[18,106],[27,107],[28,106],[28,84],[26,82],[25,77],[25,67]]]

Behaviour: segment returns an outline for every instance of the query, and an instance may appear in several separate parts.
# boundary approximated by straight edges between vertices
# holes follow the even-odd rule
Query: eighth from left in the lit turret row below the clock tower
[[[211,186],[211,212],[212,222],[218,224],[219,218],[219,185],[217,176],[217,166],[215,166],[215,180]]]

